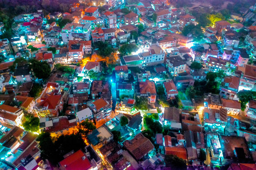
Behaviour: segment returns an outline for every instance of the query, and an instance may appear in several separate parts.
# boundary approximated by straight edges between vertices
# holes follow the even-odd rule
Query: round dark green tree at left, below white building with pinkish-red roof
[[[51,67],[46,61],[31,60],[31,68],[38,79],[46,79],[51,74]]]

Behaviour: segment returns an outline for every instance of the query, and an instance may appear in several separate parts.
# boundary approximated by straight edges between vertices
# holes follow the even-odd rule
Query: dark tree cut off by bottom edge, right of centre
[[[172,167],[172,170],[186,170],[186,161],[176,155],[165,155],[166,167]]]

